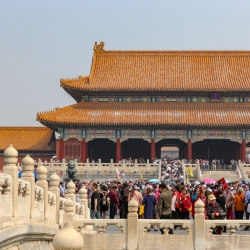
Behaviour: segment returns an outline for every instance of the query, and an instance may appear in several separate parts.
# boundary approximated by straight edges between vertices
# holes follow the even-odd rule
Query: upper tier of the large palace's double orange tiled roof
[[[82,91],[249,91],[250,51],[105,51],[89,77],[61,79]]]

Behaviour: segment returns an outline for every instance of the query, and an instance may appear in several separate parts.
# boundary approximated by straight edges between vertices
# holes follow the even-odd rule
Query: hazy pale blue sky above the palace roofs
[[[250,50],[249,0],[0,0],[0,126],[75,101],[60,78],[107,50]]]

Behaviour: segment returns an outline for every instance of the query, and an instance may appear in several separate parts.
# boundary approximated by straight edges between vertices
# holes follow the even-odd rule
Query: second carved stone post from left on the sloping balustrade
[[[34,175],[34,160],[26,155],[22,160],[23,173],[22,179],[30,183],[30,218],[35,217],[35,175]]]

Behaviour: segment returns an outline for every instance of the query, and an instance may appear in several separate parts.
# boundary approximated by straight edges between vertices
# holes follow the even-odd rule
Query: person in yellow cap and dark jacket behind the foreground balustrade
[[[216,202],[216,197],[213,194],[208,195],[208,205],[206,207],[206,215],[209,220],[222,220],[226,217],[219,203]],[[216,227],[213,234],[221,234],[222,227]]]

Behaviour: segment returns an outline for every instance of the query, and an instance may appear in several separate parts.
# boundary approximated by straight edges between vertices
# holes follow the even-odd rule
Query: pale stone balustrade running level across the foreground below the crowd
[[[66,237],[63,242],[54,244],[55,250],[61,249],[127,249],[127,250],[167,250],[167,249],[185,249],[185,250],[205,250],[205,249],[248,249],[249,234],[237,234],[236,230],[240,226],[250,226],[249,220],[205,220],[204,203],[199,199],[195,203],[195,220],[165,220],[165,219],[138,219],[138,204],[132,199],[129,202],[128,219],[73,219],[67,216],[68,223],[72,224],[75,230],[71,230],[71,234],[67,235],[67,228],[63,229]],[[70,214],[69,210],[66,212]],[[112,235],[106,233],[106,229],[110,225],[115,225],[121,230]],[[92,226],[93,230],[87,230],[86,227]],[[151,226],[158,226],[163,230],[164,235],[147,234],[147,229]],[[174,226],[181,226],[186,233],[171,235],[169,230]],[[229,234],[213,235],[212,231],[217,226],[226,226]],[[68,227],[68,226],[67,226]],[[108,229],[107,229],[108,230]],[[73,247],[67,242],[71,237],[83,238]],[[57,236],[56,236],[57,237]],[[58,238],[58,237],[57,237]],[[112,240],[112,241],[111,241]]]

